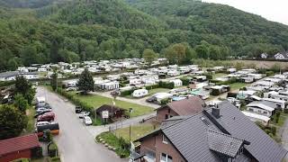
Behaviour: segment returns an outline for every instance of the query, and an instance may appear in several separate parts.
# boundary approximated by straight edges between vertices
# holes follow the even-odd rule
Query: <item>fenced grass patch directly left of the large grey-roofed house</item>
[[[156,126],[157,128],[157,126]],[[121,137],[129,142],[129,127],[115,130],[117,137]],[[131,140],[139,139],[140,137],[148,134],[148,132],[154,130],[154,125],[152,123],[144,123],[139,125],[131,126]]]

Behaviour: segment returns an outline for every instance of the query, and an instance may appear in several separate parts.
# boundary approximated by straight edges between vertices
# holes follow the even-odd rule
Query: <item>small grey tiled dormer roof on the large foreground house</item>
[[[236,157],[244,142],[243,139],[234,138],[220,131],[207,130],[207,133],[209,148],[228,157]]]

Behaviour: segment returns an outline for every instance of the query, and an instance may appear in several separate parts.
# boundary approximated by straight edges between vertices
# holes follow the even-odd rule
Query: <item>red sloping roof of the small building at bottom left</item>
[[[29,148],[40,147],[36,134],[0,140],[0,156]]]

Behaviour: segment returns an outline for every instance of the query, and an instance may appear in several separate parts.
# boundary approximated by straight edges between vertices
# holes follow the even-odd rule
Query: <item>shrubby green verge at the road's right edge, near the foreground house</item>
[[[96,141],[100,142],[100,138],[103,139],[103,141],[111,146],[112,148],[115,148],[115,153],[121,157],[129,157],[129,146],[130,143],[127,143],[124,139],[117,138],[112,132],[103,132],[99,136],[96,137]]]

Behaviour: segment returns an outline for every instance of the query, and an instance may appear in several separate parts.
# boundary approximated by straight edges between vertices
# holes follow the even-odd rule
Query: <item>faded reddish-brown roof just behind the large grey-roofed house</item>
[[[166,104],[166,106],[178,115],[191,115],[196,112],[202,112],[204,105],[204,101],[198,96],[192,96],[184,100]]]

